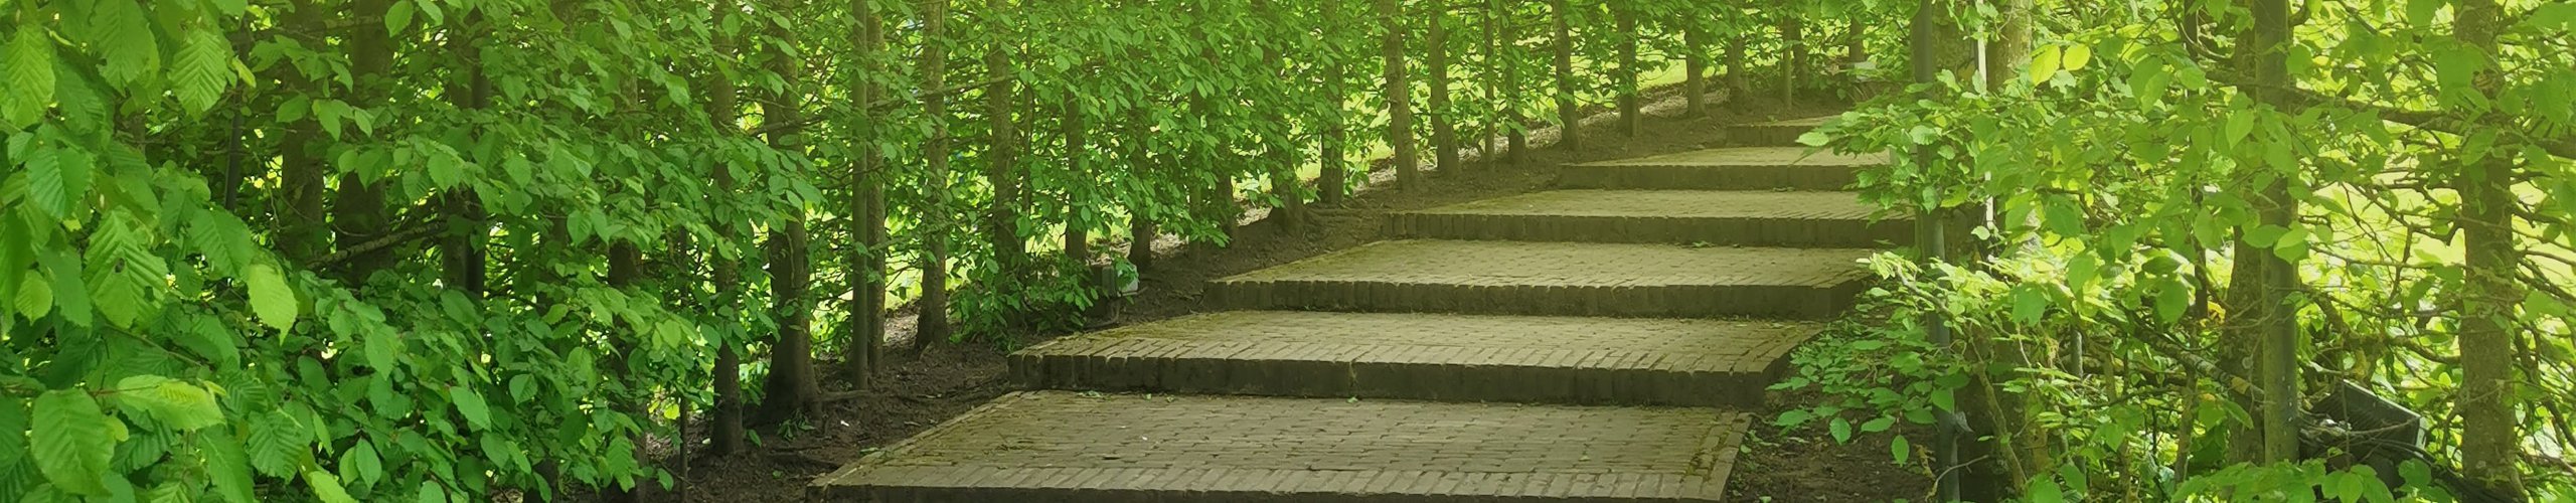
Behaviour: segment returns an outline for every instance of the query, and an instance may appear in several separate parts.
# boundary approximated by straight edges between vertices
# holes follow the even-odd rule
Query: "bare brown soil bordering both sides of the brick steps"
[[[1556,178],[1556,165],[1723,147],[1728,124],[1824,116],[1837,108],[1713,98],[1710,116],[1680,119],[1680,90],[1656,88],[1649,90],[1646,111],[1636,137],[1618,134],[1615,113],[1592,111],[1584,119],[1582,152],[1538,147],[1556,139],[1553,132],[1538,132],[1530,137],[1533,150],[1522,163],[1484,163],[1466,155],[1468,160],[1455,173],[1427,170],[1432,175],[1427,191],[1394,191],[1386,163],[1378,163],[1370,186],[1358,196],[1340,206],[1311,206],[1319,224],[1306,232],[1285,232],[1265,219],[1236,230],[1234,242],[1224,248],[1164,245],[1170,250],[1144,268],[1144,291],[1123,299],[1110,325],[1200,312],[1200,291],[1211,279],[1378,240],[1388,212],[1525,193],[1546,188]],[[1430,160],[1430,155],[1422,157]],[[896,340],[907,340],[909,333],[909,315],[904,315],[889,330],[889,348],[907,348]],[[1054,335],[1023,335],[1018,346]],[[824,390],[835,400],[824,405],[819,418],[762,428],[757,446],[747,454],[698,457],[688,467],[672,467],[675,459],[665,459],[665,467],[688,480],[685,493],[649,500],[683,500],[683,495],[706,503],[804,500],[809,480],[1015,390],[1007,382],[1007,348],[994,343],[935,343],[920,356],[909,351],[886,351],[886,356],[889,361],[876,377],[876,390],[884,392],[848,392],[845,379],[827,377]],[[1801,408],[1811,397],[1780,395],[1770,402],[1772,408],[1762,410],[1757,423],[1777,418],[1780,410]],[[1886,433],[1834,444],[1824,428],[1757,426],[1747,446],[1728,500],[1922,500],[1924,488],[1929,488],[1924,475],[1888,464]]]

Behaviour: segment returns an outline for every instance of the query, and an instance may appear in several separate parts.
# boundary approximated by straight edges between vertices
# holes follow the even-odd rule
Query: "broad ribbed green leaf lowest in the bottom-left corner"
[[[98,410],[80,390],[54,390],[36,397],[28,451],[36,469],[62,493],[108,495],[108,459],[116,457],[116,431],[124,423]]]

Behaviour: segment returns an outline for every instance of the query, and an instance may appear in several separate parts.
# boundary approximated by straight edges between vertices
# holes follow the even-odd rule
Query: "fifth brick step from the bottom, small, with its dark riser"
[[[1726,147],[1566,165],[1558,168],[1556,186],[1656,191],[1842,191],[1860,181],[1862,168],[1886,163],[1888,155],[1834,155],[1811,152],[1808,147]]]

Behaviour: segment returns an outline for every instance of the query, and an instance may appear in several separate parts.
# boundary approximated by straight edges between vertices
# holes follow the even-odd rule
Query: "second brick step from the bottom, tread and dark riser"
[[[1811,322],[1211,312],[1010,356],[1038,390],[1759,408]]]

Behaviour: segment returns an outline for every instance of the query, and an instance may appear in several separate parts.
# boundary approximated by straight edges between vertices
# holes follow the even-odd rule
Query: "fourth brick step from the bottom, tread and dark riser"
[[[1399,237],[1880,248],[1904,219],[1839,191],[1540,191],[1388,219]]]

